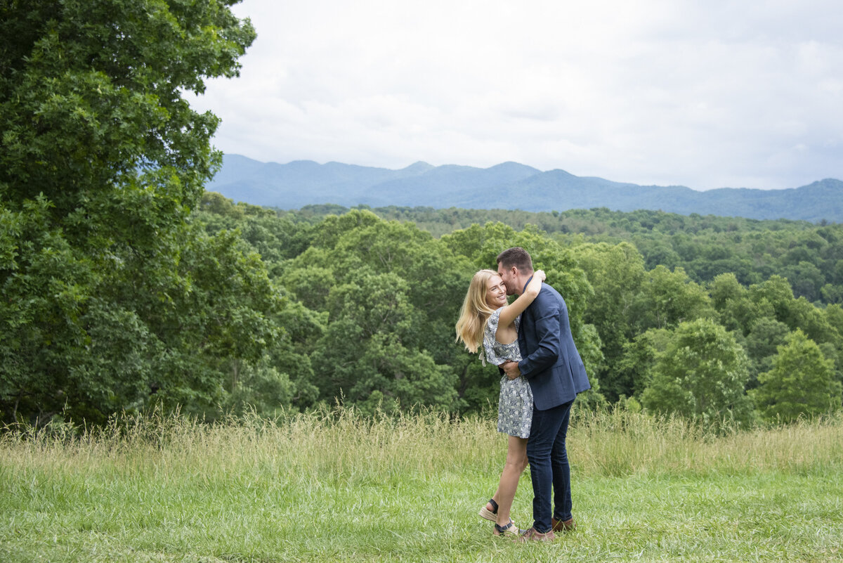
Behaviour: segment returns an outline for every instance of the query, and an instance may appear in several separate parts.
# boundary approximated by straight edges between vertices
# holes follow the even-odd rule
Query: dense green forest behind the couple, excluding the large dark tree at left
[[[591,404],[631,398],[649,410],[744,421],[840,404],[843,309],[795,295],[787,277],[769,273],[796,252],[825,266],[840,252],[839,225],[598,209],[547,214],[566,226],[549,233],[530,223],[516,230],[500,221],[507,212],[441,210],[438,217],[489,220],[436,238],[408,211],[399,222],[367,209],[279,212],[204,196],[197,219],[207,232],[240,233],[300,315],[285,352],[308,368],[285,380],[298,408],[337,396],[364,410],[384,399],[461,412],[494,404],[496,372],[459,350],[453,324],[470,276],[512,245],[530,249],[566,297],[595,383]],[[510,213],[507,223],[524,217]],[[588,228],[574,233],[577,225]],[[685,241],[693,260],[648,265],[636,248],[641,236],[650,248]],[[685,270],[727,244],[722,255],[757,267],[740,276],[707,271],[701,281],[700,269]]]

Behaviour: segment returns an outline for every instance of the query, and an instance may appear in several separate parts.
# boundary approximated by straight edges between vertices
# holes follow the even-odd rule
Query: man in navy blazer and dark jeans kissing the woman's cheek
[[[497,256],[497,273],[508,295],[521,295],[533,276],[533,260],[522,248],[504,250]],[[554,532],[575,526],[565,437],[571,405],[577,393],[591,389],[591,384],[574,346],[565,300],[546,283],[521,314],[518,348],[524,359],[505,362],[501,367],[510,379],[524,375],[533,391],[527,459],[533,480],[534,522],[519,539],[550,540],[555,539]]]

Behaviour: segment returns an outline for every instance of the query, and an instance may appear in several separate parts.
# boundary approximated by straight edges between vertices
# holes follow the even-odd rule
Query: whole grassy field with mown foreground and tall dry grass
[[[579,412],[576,531],[491,535],[483,417],[351,411],[0,435],[0,561],[840,561],[843,417],[712,437]],[[513,515],[526,528],[529,471]]]

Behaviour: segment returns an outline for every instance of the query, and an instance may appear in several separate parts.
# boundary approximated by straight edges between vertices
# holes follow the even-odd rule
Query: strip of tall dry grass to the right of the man
[[[840,470],[843,416],[712,432],[678,416],[582,411],[572,421],[569,449],[577,468],[594,475]]]

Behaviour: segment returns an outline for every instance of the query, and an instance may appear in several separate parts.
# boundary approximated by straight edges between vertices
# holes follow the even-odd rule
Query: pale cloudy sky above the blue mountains
[[[240,78],[191,103],[265,162],[642,185],[843,180],[839,0],[244,0]]]

